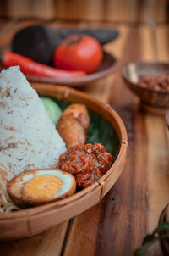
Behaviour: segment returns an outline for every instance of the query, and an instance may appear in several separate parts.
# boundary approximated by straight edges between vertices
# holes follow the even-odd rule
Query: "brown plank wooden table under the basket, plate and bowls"
[[[0,46],[32,23],[35,21],[1,21]],[[60,25],[74,24],[52,22],[53,27]],[[83,25],[104,24],[79,24]],[[169,25],[119,23],[116,27],[121,36],[105,49],[122,64],[139,59],[169,61]],[[100,204],[41,235],[0,243],[2,256],[133,255],[169,203],[169,132],[164,118],[140,110],[139,99],[125,86],[120,70],[81,89],[110,103],[123,118],[129,143],[123,174]],[[161,255],[158,243],[148,255]]]

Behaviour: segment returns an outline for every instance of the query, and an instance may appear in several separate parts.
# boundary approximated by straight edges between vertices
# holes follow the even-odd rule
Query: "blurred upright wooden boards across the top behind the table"
[[[168,0],[0,0],[0,19],[168,22]]]

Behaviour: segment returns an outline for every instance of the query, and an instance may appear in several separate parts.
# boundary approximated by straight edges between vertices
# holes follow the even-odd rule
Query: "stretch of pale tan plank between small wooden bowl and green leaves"
[[[163,117],[149,114],[145,121],[149,137],[147,175],[150,186],[149,231],[151,232],[155,228],[155,223],[158,223],[161,210],[169,202],[169,144],[166,122]]]

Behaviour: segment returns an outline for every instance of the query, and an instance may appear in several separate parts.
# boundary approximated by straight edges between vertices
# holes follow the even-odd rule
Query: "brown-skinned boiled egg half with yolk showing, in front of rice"
[[[59,169],[25,170],[7,185],[9,197],[21,208],[52,203],[75,190],[74,176]]]

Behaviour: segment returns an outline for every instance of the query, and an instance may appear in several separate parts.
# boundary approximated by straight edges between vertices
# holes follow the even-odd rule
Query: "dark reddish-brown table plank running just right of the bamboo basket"
[[[142,58],[142,31],[143,27],[131,27],[128,31],[123,47],[122,61],[134,61]],[[128,163],[117,184],[113,187],[119,203],[116,210],[119,213],[117,222],[113,225],[113,233],[116,233],[118,224],[122,223],[123,233],[115,237],[113,251],[115,255],[133,255],[146,233],[146,144],[144,114],[139,111],[139,100],[125,86],[121,74],[117,74],[118,89],[115,96],[118,101],[112,106],[122,116],[128,131],[129,154]],[[137,234],[137,236],[136,236]],[[120,238],[123,245],[120,247]],[[118,244],[118,246],[115,246]]]

